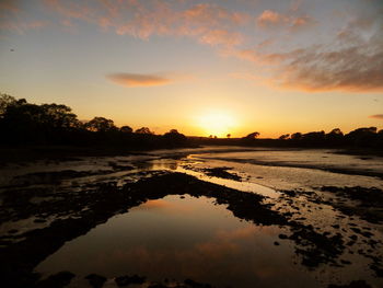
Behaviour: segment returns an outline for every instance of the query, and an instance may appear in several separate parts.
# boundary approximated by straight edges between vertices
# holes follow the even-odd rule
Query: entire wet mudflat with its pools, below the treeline
[[[211,148],[188,154],[56,154],[3,168],[1,287],[382,287],[379,159]],[[166,217],[144,212],[169,199],[184,206],[162,210]],[[193,205],[207,212],[196,215]],[[150,241],[162,245],[162,257],[148,243],[149,254],[140,246],[141,254],[127,253],[137,249],[134,239],[146,241],[146,233],[135,238],[144,229],[160,231]],[[103,265],[86,264],[103,253]],[[61,263],[72,257],[88,266]]]

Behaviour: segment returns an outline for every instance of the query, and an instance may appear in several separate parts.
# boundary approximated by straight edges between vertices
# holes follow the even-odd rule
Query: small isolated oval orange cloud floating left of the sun
[[[172,82],[167,78],[155,74],[113,73],[106,78],[124,87],[158,87]]]

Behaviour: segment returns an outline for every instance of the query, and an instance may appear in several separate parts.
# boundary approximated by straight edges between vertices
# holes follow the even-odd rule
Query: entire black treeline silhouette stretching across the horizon
[[[81,122],[71,108],[61,104],[31,104],[25,99],[16,100],[0,94],[1,145],[69,145],[108,146],[126,149],[155,149],[192,147],[198,145],[305,147],[305,148],[372,148],[383,150],[383,130],[363,127],[344,134],[340,129],[330,133],[312,131],[281,135],[278,139],[262,139],[259,133],[243,138],[186,137],[172,129],[164,135],[154,135],[148,127],[134,130],[129,126],[117,127],[112,119],[94,117]]]

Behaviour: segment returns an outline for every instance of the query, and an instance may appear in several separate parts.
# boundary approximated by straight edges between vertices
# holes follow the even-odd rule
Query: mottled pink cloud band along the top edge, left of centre
[[[213,3],[184,5],[166,1],[100,0],[91,8],[85,3],[44,0],[50,11],[66,20],[82,20],[118,35],[148,39],[153,35],[187,36],[211,46],[235,46],[242,34],[235,28],[249,15]],[[61,20],[61,23],[65,23]]]

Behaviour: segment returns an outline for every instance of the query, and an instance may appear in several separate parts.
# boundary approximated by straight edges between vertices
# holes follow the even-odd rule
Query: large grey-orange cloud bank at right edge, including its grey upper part
[[[265,16],[275,21],[280,18]],[[310,92],[383,92],[382,22],[371,15],[352,19],[328,38],[327,44],[287,51],[263,50],[259,46],[233,49],[232,56],[265,67],[263,77],[268,79],[260,81],[262,78],[248,74],[236,77]],[[297,22],[295,25],[300,24]]]

